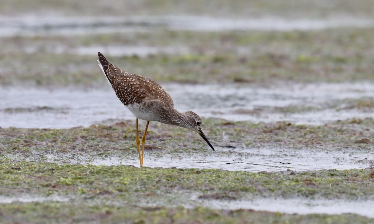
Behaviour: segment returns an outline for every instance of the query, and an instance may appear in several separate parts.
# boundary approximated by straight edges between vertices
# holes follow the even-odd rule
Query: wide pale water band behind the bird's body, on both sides
[[[374,111],[321,108],[336,100],[374,97],[373,83],[294,84],[289,87],[247,88],[240,85],[163,84],[179,111],[194,111],[203,118],[229,121],[324,124],[326,122],[374,117]],[[188,97],[186,97],[188,96]],[[258,108],[311,106],[305,112],[238,113]],[[344,105],[342,105],[344,108]],[[0,87],[0,127],[71,128],[88,127],[105,121],[134,119],[108,85],[99,90],[55,90]]]

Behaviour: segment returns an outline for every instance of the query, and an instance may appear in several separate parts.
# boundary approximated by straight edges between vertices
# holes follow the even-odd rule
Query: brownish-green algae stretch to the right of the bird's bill
[[[234,147],[292,148],[295,150],[353,149],[370,152],[374,148],[373,133],[369,128],[374,120],[348,119],[323,125],[297,125],[291,122],[253,123],[209,119],[203,123],[211,141]],[[208,126],[208,127],[207,127]],[[371,126],[372,127],[372,126]],[[221,138],[225,135],[226,139]],[[368,139],[367,144],[359,140]]]

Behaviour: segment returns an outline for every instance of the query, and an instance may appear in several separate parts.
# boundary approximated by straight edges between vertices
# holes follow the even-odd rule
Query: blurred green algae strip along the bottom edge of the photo
[[[253,210],[213,210],[144,206],[90,205],[86,203],[12,203],[2,205],[0,213],[6,223],[373,223],[374,219],[355,214],[282,214]]]

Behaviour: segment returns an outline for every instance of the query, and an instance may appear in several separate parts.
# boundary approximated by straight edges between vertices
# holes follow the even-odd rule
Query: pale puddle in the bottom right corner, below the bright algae
[[[287,214],[345,214],[353,213],[374,218],[374,201],[254,199],[254,200],[201,200],[202,206],[212,209],[253,209],[255,211]]]

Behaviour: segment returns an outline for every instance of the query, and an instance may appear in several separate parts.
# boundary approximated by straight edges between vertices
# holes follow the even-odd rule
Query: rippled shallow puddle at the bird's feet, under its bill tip
[[[279,172],[307,171],[319,169],[363,169],[374,165],[374,153],[354,149],[328,150],[328,149],[279,149],[261,147],[258,149],[232,149],[215,146],[216,151],[186,152],[182,154],[169,154],[163,152],[145,151],[145,167],[177,167],[198,169],[224,169],[230,171],[250,172]],[[64,158],[58,154],[44,155],[48,162],[53,163],[77,163],[92,165],[134,165],[139,167],[137,151],[133,150],[133,156],[124,158],[116,152],[116,155],[107,158],[92,155],[75,155],[74,158]],[[37,158],[29,156],[28,160]]]

